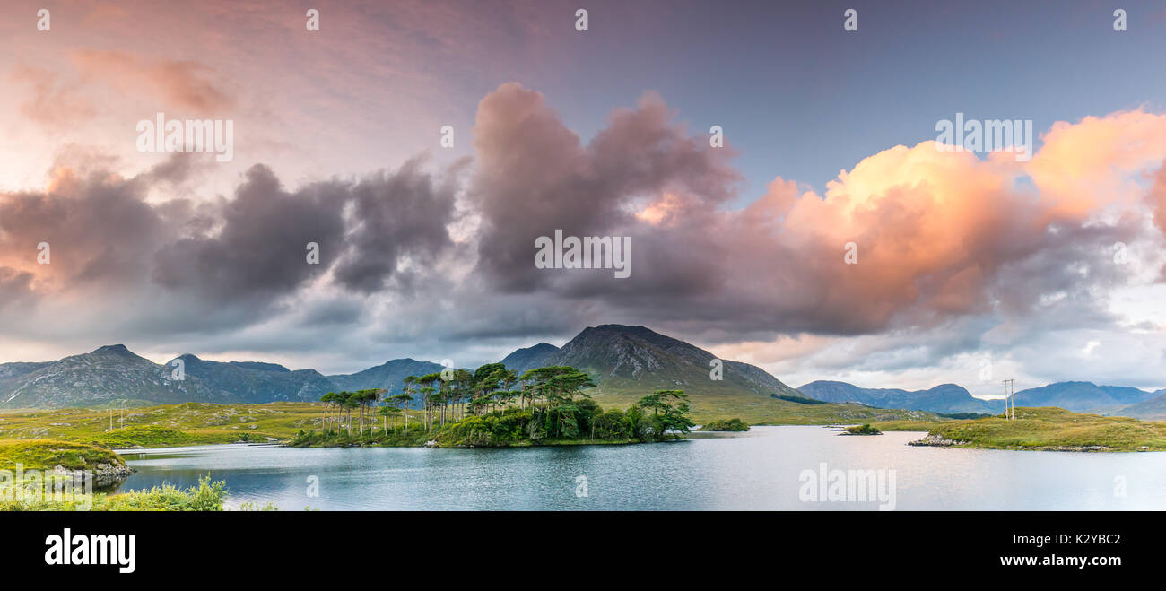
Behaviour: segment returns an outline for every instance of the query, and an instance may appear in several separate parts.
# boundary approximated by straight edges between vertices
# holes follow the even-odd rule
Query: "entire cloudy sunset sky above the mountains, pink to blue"
[[[476,366],[623,323],[793,386],[1166,387],[1161,2],[3,14],[0,363]],[[157,113],[231,159],[143,152]],[[1030,157],[940,149],[957,113]],[[556,230],[631,275],[536,268]]]

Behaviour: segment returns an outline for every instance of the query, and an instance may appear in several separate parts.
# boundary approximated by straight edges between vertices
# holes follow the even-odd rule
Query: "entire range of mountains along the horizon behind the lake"
[[[431,361],[393,359],[357,373],[324,375],[316,370],[292,371],[260,361],[209,361],[189,353],[175,359],[182,361],[183,380],[170,379],[175,360],[155,364],[124,345],[107,345],[56,361],[0,364],[0,408],[92,407],[122,401],[139,406],[317,401],[333,391],[385,388],[395,394],[405,377],[443,370]],[[740,396],[793,395],[934,413],[996,414],[1004,408],[1002,400],[977,399],[955,384],[905,391],[821,380],[794,389],[760,367],[718,359],[683,340],[621,324],[584,329],[562,347],[539,343],[519,349],[501,363],[519,373],[548,365],[576,367],[596,381],[596,394],[621,403],[654,389],[683,389],[694,400],[710,404],[749,400]],[[719,379],[714,379],[717,365]],[[1166,389],[1151,393],[1091,382],[1059,382],[1018,392],[1016,402],[1021,407],[1055,406],[1074,411],[1166,418]]]

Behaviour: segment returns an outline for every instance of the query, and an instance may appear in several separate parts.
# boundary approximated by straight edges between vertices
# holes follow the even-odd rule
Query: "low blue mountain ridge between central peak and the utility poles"
[[[1003,401],[977,399],[955,384],[942,384],[932,389],[912,392],[898,388],[859,388],[844,381],[819,380],[798,389],[807,396],[827,402],[862,402],[879,408],[985,414],[1004,410]]]

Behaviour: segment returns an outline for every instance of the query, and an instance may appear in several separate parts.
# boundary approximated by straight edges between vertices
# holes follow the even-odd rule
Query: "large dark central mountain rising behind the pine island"
[[[798,394],[760,367],[739,361],[722,360],[722,379],[714,380],[710,372],[716,356],[644,326],[592,326],[562,349],[542,343],[520,349],[506,359],[535,366],[568,365],[590,374],[600,394],[624,397],[639,397],[655,389],[683,389],[694,399],[707,394],[766,399],[770,394]]]

